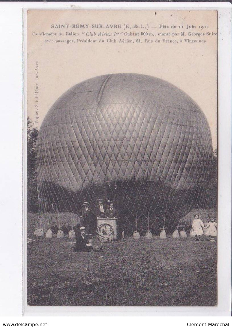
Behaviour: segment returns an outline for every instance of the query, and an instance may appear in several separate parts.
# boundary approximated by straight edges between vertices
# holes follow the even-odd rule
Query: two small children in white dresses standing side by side
[[[203,230],[206,231],[206,235],[210,236],[210,240],[214,240],[215,236],[217,236],[217,223],[214,218],[210,218],[210,222],[204,225],[202,220],[199,218],[199,215],[194,215],[194,219],[192,221],[192,233],[195,235],[195,241],[199,241],[200,236],[204,234]]]

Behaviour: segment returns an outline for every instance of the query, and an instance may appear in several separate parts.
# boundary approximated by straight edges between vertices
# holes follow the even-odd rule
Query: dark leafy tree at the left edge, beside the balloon
[[[32,128],[32,121],[27,117],[27,210],[38,211],[37,176],[35,146],[38,129]]]

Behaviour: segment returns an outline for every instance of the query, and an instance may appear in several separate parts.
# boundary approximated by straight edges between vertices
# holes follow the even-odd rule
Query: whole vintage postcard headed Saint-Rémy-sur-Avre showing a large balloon
[[[29,306],[217,306],[217,11],[26,12]]]

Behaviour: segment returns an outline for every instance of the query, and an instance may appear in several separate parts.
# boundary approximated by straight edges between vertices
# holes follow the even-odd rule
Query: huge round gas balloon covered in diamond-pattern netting
[[[207,202],[212,141],[204,113],[183,91],[158,78],[115,74],[77,84],[57,100],[36,158],[40,225],[45,212],[58,219],[105,196],[131,234],[172,230],[199,199]]]

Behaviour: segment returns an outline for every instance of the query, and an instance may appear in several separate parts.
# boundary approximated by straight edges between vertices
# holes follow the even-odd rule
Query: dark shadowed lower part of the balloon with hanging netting
[[[44,182],[38,187],[38,194],[37,227],[54,232],[74,230],[80,224],[83,202],[90,203],[94,214],[98,198],[108,206],[113,201],[125,236],[131,236],[134,231],[145,235],[147,230],[158,234],[162,229],[172,233],[189,228],[191,221],[183,218],[193,209],[209,212],[209,188],[202,182],[194,187],[189,184],[187,190],[173,190],[162,181],[106,181],[101,186],[90,183],[78,193]]]

